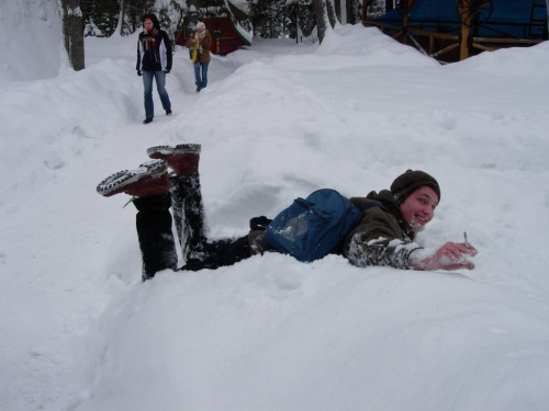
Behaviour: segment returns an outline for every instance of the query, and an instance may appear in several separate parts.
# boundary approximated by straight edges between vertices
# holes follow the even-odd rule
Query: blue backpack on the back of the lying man
[[[361,210],[335,190],[322,189],[274,217],[265,240],[277,251],[302,262],[322,259],[339,247],[358,224]]]

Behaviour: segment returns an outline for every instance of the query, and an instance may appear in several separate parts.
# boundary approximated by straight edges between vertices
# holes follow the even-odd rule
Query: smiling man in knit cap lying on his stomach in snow
[[[137,208],[136,226],[143,256],[143,281],[158,271],[177,270],[177,251],[171,231],[171,207],[186,264],[179,270],[215,270],[274,251],[265,231],[251,230],[237,239],[208,241],[200,190],[200,145],[158,146],[147,150],[155,159],[132,171],[120,171],[103,180],[99,194],[132,195]],[[173,171],[168,176],[168,167]],[[340,253],[354,265],[386,265],[402,270],[474,269],[469,243],[447,242],[437,250],[413,242],[415,233],[429,222],[440,199],[438,182],[423,171],[408,170],[391,189],[350,198],[362,210],[358,225],[346,236]],[[369,202],[381,207],[362,207]]]

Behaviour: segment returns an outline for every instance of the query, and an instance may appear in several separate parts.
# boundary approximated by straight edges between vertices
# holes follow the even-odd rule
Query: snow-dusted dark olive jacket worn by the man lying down
[[[350,201],[359,208],[371,202],[381,204],[381,207],[370,207],[362,212],[360,221],[345,238],[340,253],[351,264],[360,267],[386,265],[411,269],[410,255],[422,247],[413,242],[413,233],[406,232],[406,225],[391,192],[371,192],[366,197],[352,197]],[[273,251],[265,241],[264,231],[250,231],[248,240],[253,253]]]

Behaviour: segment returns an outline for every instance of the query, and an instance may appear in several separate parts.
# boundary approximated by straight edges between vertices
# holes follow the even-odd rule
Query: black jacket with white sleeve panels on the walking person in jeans
[[[155,27],[150,33],[139,34],[135,69],[137,71],[171,70],[171,41],[164,30]]]

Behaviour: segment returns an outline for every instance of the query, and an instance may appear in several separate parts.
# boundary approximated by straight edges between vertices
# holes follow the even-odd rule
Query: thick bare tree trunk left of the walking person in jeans
[[[65,35],[65,48],[67,49],[70,66],[76,71],[82,70],[85,66],[83,54],[83,20],[80,10],[80,0],[63,0],[63,31]]]

